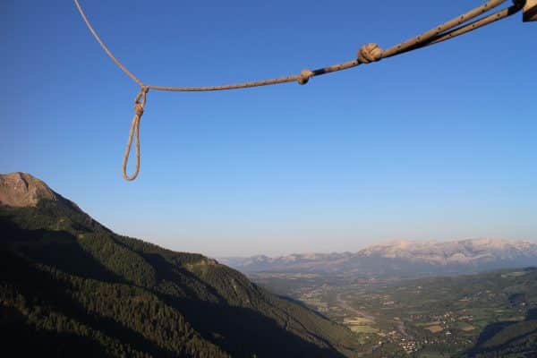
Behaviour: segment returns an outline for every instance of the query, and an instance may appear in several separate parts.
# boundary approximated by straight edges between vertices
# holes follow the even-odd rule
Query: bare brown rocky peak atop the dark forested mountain
[[[46,183],[27,173],[0,174],[0,205],[35,207],[42,199],[58,200]]]

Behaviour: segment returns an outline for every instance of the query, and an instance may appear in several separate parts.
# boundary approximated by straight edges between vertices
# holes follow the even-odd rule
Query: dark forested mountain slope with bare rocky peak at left
[[[344,357],[354,334],[195,253],[113,233],[0,175],[0,334],[21,356]]]

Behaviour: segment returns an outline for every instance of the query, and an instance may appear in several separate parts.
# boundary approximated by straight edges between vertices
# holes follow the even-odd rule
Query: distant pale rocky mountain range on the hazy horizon
[[[243,272],[316,272],[373,276],[459,274],[537,265],[537,244],[475,239],[454,242],[396,241],[355,253],[293,254],[277,258],[220,259]]]

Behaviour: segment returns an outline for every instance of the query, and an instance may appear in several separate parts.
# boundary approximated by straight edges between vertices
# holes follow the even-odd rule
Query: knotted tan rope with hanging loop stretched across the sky
[[[168,86],[158,86],[158,85],[147,85],[144,84],[138,77],[136,77],[132,72],[130,72],[124,64],[122,64],[117,57],[110,51],[110,49],[105,45],[103,40],[98,36],[98,33],[91,26],[90,21],[86,17],[86,14],[79,4],[79,0],[74,0],[76,7],[81,13],[83,21],[86,23],[86,26],[90,30],[93,37],[98,41],[100,47],[107,53],[107,55],[114,61],[114,63],[127,75],[132,81],[136,82],[140,87],[141,91],[138,96],[135,98],[135,114],[132,118],[131,131],[129,133],[129,141],[127,143],[127,149],[125,149],[124,156],[124,166],[123,174],[126,180],[133,180],[139,173],[140,170],[140,121],[141,115],[143,114],[143,107],[145,106],[146,94],[148,90],[167,90],[167,91],[209,91],[209,90],[238,90],[238,89],[247,89],[251,87],[260,87],[268,86],[279,83],[293,82],[296,81],[301,85],[308,83],[312,77],[320,76],[321,74],[338,72],[347,70],[349,68],[356,67],[360,64],[371,64],[373,62],[380,61],[383,58],[392,57],[395,55],[401,55],[409,51],[416,50],[422,47],[428,47],[430,45],[437,44],[447,39],[456,38],[457,36],[463,35],[467,32],[477,30],[482,28],[485,25],[488,25],[492,22],[505,19],[508,16],[511,16],[514,13],[517,13],[524,7],[524,0],[513,0],[513,5],[507,7],[506,9],[500,10],[499,12],[492,13],[488,16],[482,17],[479,20],[469,22],[476,17],[487,13],[495,7],[498,7],[500,4],[505,3],[506,0],[490,0],[481,6],[474,8],[473,10],[464,13],[456,18],[444,22],[443,24],[423,32],[422,34],[410,38],[405,42],[399,43],[393,47],[389,47],[386,50],[382,50],[377,44],[367,44],[362,46],[356,55],[356,59],[347,61],[341,64],[333,64],[327,67],[322,67],[317,70],[308,70],[304,69],[298,74],[291,74],[284,77],[277,77],[268,80],[260,81],[248,81],[243,83],[233,83],[233,84],[224,84],[217,86],[201,86],[201,87],[168,87]],[[140,102],[141,99],[141,102]],[[132,145],[132,136],[136,133],[136,170],[133,175],[126,175],[126,164],[128,161],[131,145]]]

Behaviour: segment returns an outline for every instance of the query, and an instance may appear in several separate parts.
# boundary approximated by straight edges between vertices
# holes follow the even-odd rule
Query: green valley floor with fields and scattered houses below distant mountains
[[[362,356],[488,356],[492,348],[508,356],[516,345],[537,347],[535,268],[417,279],[251,278],[350,328]]]

